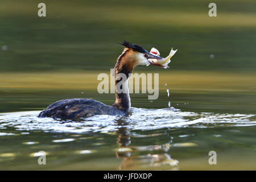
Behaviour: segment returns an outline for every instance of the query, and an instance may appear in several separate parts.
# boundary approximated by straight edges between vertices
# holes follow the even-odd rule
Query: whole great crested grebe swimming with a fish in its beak
[[[122,79],[117,78],[118,73],[123,73],[129,78],[129,73],[137,65],[158,65],[148,61],[148,59],[162,59],[162,57],[152,55],[141,46],[131,44],[125,40],[121,42],[125,48],[117,59],[115,64],[115,102],[112,106],[105,105],[100,101],[92,100],[91,98],[73,98],[57,101],[49,105],[43,110],[38,117],[52,117],[52,118],[85,118],[93,115],[108,114],[108,115],[127,115],[131,109],[131,101],[129,96],[128,86],[126,92],[117,92],[117,84]],[[128,81],[125,82],[128,85]]]

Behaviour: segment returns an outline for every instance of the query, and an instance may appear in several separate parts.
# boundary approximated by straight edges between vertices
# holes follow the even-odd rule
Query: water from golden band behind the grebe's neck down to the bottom
[[[114,94],[97,93],[96,72],[2,74],[0,169],[256,169],[255,75],[159,75],[158,100],[131,94],[127,117],[61,121],[36,115],[63,98],[113,104]]]

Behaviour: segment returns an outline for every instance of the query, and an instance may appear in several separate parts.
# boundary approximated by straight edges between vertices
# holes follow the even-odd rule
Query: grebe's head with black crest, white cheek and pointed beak
[[[129,56],[129,61],[126,62],[127,65],[130,67],[136,67],[137,65],[156,65],[149,61],[148,59],[162,59],[162,57],[152,55],[150,52],[146,51],[141,46],[136,44],[131,44],[123,40],[120,43],[121,45],[125,46],[125,51],[127,51],[126,56]]]

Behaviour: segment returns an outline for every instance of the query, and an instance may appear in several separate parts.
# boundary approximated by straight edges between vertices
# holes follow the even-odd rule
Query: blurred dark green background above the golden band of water
[[[40,2],[0,2],[1,72],[113,68],[123,39],[162,56],[177,48],[174,70],[256,69],[256,1],[214,1],[212,18],[212,1],[43,1],[39,18]]]

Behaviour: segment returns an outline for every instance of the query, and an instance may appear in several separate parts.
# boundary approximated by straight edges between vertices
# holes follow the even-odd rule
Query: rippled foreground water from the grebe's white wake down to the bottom
[[[96,115],[61,121],[38,118],[39,112],[0,114],[1,169],[256,167],[255,114],[133,107],[127,117]],[[216,166],[208,164],[212,150],[218,155]],[[46,166],[38,164],[40,151],[46,152]]]

